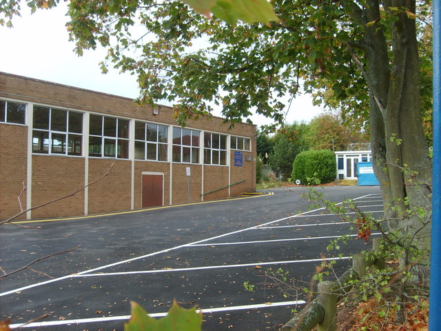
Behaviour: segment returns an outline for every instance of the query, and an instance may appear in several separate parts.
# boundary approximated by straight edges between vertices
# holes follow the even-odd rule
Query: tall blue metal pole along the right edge
[[[441,3],[433,0],[433,176],[429,331],[441,325]]]

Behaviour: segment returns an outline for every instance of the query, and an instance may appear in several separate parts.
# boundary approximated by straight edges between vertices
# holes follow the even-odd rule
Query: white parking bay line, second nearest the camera
[[[227,264],[227,265],[208,265],[207,267],[194,267],[194,268],[167,268],[157,270],[137,270],[137,271],[125,271],[125,272],[100,272],[99,274],[72,274],[72,278],[85,278],[85,277],[103,277],[103,276],[126,276],[129,274],[158,274],[161,272],[181,272],[181,271],[193,271],[193,270],[209,270],[209,269],[227,269],[227,268],[244,268],[255,267],[256,265],[274,265],[274,264],[291,264],[291,263],[309,263],[309,262],[321,262],[321,261],[337,261],[337,260],[349,260],[352,257],[329,257],[326,259],[307,259],[307,260],[291,260],[291,261],[272,261],[272,262],[255,262],[255,263],[243,263],[243,264]]]

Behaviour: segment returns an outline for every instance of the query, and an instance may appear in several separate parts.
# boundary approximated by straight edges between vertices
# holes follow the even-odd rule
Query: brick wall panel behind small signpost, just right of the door
[[[202,187],[202,165],[178,164],[173,165],[173,195],[172,203],[187,203],[187,174],[185,168],[190,167],[191,176],[189,178],[190,185],[190,202],[201,201]]]

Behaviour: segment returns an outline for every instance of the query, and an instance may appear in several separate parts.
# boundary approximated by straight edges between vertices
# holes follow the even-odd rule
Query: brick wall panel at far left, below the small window
[[[0,220],[20,212],[17,197],[26,182],[28,127],[0,123]],[[21,194],[26,208],[26,192]],[[19,219],[25,218],[25,215]]]

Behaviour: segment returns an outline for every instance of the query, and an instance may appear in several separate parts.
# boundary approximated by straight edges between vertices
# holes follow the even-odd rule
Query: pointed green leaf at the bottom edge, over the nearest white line
[[[141,305],[130,302],[132,317],[124,324],[124,331],[201,331],[202,313],[196,307],[185,310],[173,301],[172,308],[162,319],[148,316]]]

